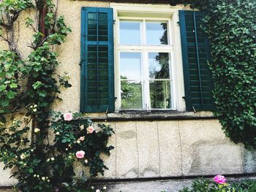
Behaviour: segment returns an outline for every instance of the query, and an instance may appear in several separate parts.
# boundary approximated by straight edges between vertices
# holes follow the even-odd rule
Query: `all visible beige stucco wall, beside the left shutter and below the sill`
[[[58,72],[68,72],[71,88],[63,89],[53,110],[78,112],[80,104],[80,9],[109,7],[108,2],[59,1],[59,15],[72,28],[67,42],[58,47]],[[29,13],[26,13],[29,14]],[[26,15],[23,16],[26,18]],[[20,19],[20,26],[23,24]],[[31,31],[20,28],[19,46],[26,47]],[[0,42],[1,48],[6,45]],[[29,48],[23,48],[23,56]],[[94,118],[104,114],[91,114]],[[106,179],[177,177],[207,174],[243,174],[256,172],[255,156],[241,145],[230,142],[217,120],[126,120],[110,122],[116,131],[110,145],[115,149],[105,158],[109,170]],[[2,171],[0,186],[13,185],[9,171]]]

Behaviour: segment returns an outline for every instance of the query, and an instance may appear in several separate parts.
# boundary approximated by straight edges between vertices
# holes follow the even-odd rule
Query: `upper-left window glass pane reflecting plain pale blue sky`
[[[120,44],[140,45],[140,22],[120,22]]]

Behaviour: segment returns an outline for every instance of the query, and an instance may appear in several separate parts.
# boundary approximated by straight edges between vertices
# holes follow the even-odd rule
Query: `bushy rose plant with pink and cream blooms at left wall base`
[[[94,126],[90,118],[78,113],[52,112],[51,117],[41,150],[37,149],[37,138],[42,137],[40,128],[34,128],[31,143],[27,137],[30,128],[20,129],[20,121],[10,127],[1,125],[0,159],[4,169],[13,169],[17,187],[24,192],[97,191],[91,186],[91,177],[104,175],[108,169],[101,154],[110,155],[113,149],[107,146],[113,129],[105,124]]]

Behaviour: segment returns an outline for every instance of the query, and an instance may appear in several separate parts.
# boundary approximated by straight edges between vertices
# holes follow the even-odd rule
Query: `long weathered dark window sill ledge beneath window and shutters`
[[[130,120],[198,120],[198,119],[217,119],[212,112],[177,112],[152,110],[125,110],[108,113],[105,115],[96,115],[92,117],[94,121],[130,121]]]

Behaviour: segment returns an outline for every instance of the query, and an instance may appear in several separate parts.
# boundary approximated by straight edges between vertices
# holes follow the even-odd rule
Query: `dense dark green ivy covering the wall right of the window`
[[[256,1],[208,1],[214,114],[227,137],[256,148]]]

